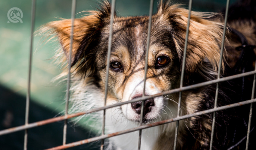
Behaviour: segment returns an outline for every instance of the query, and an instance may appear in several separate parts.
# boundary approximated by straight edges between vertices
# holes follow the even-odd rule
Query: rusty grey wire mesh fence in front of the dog
[[[152,12],[153,12],[153,2],[154,0],[150,1],[150,8],[149,8],[149,22],[148,22],[148,37],[147,37],[147,48],[146,48],[146,58],[145,58],[145,64],[147,64],[148,62],[148,50],[149,50],[149,41],[150,41],[150,29],[151,29],[151,20],[152,20]],[[224,21],[224,28],[223,28],[223,39],[222,39],[222,45],[221,45],[221,58],[219,61],[219,64],[222,63],[223,61],[223,51],[224,51],[224,42],[225,42],[225,35],[226,35],[226,26],[227,26],[227,19],[228,19],[228,10],[229,10],[229,3],[230,1],[227,0],[226,2],[226,13],[225,13],[225,21]],[[112,32],[113,32],[113,20],[114,20],[114,11],[115,11],[115,0],[112,1],[112,9],[111,9],[111,21],[110,21],[110,34],[109,34],[109,40],[108,40],[108,55],[107,55],[107,68],[106,70],[109,70],[109,66],[110,66],[110,53],[111,53],[111,39],[112,39]],[[218,75],[217,75],[217,79],[211,80],[211,81],[207,81],[207,82],[202,82],[202,83],[197,83],[197,84],[193,84],[193,85],[189,85],[189,86],[183,86],[183,78],[184,78],[184,71],[185,71],[185,62],[186,62],[186,49],[187,49],[187,44],[188,44],[188,37],[189,37],[189,21],[190,21],[190,16],[191,16],[191,9],[192,9],[192,0],[189,0],[189,16],[188,16],[188,22],[187,22],[187,28],[186,28],[186,40],[184,41],[184,54],[183,54],[183,61],[182,61],[182,70],[181,70],[181,79],[180,79],[180,88],[175,88],[175,89],[171,89],[169,91],[165,91],[162,93],[158,93],[155,95],[145,95],[145,85],[146,85],[146,79],[147,79],[147,70],[148,70],[148,66],[145,65],[145,75],[144,75],[144,86],[143,86],[143,95],[142,97],[139,98],[134,98],[131,101],[126,101],[126,102],[120,102],[117,104],[113,104],[113,105],[106,105],[106,99],[107,99],[107,93],[108,93],[108,76],[109,73],[108,71],[106,72],[106,82],[105,82],[105,103],[104,103],[104,107],[99,107],[99,108],[94,108],[92,110],[89,111],[85,111],[85,112],[79,112],[79,113],[73,113],[73,114],[68,114],[68,105],[69,105],[69,97],[70,97],[70,69],[71,69],[71,52],[72,52],[72,39],[73,39],[73,26],[74,26],[74,19],[75,19],[75,12],[76,12],[76,0],[72,0],[72,6],[71,6],[71,20],[72,20],[72,25],[71,25],[71,34],[70,34],[70,57],[69,57],[69,65],[68,65],[68,80],[67,80],[67,98],[66,98],[66,106],[65,106],[65,115],[64,116],[59,116],[59,117],[55,117],[55,118],[51,118],[51,119],[47,119],[47,120],[42,120],[39,122],[34,122],[34,123],[28,123],[29,120],[29,103],[30,103],[30,79],[31,79],[31,64],[32,64],[32,52],[33,52],[33,33],[34,33],[34,22],[35,22],[35,11],[36,11],[36,0],[32,0],[32,11],[31,11],[31,40],[30,40],[30,57],[29,57],[29,73],[28,73],[28,89],[27,89],[27,100],[26,100],[26,119],[25,119],[25,124],[22,126],[17,126],[14,128],[8,128],[5,130],[0,131],[0,136],[1,135],[5,135],[5,134],[10,134],[12,132],[17,132],[17,131],[22,131],[25,130],[25,134],[24,134],[24,149],[27,149],[27,135],[28,135],[28,129],[30,128],[35,128],[38,126],[42,126],[42,125],[46,125],[46,124],[50,124],[50,123],[54,123],[54,122],[59,122],[59,121],[63,121],[64,120],[64,128],[63,128],[63,145],[61,146],[57,146],[57,147],[53,147],[50,149],[67,149],[70,147],[74,147],[74,146],[78,146],[78,145],[83,145],[85,143],[91,143],[94,141],[98,141],[101,140],[101,149],[104,149],[104,139],[109,138],[109,137],[114,137],[114,136],[118,136],[118,135],[122,135],[122,134],[126,134],[126,133],[130,133],[130,132],[134,132],[134,131],[139,131],[139,144],[138,144],[138,149],[140,149],[141,146],[141,134],[142,134],[142,129],[146,129],[146,128],[151,128],[151,127],[155,127],[158,125],[163,125],[163,124],[167,124],[167,123],[171,123],[171,122],[176,122],[176,130],[175,130],[175,139],[174,139],[174,147],[173,149],[176,149],[176,143],[177,143],[177,136],[178,136],[178,128],[179,128],[179,121],[183,120],[183,119],[187,119],[187,118],[191,118],[194,116],[200,116],[203,114],[207,114],[207,113],[213,113],[213,122],[212,122],[212,131],[211,131],[211,142],[210,142],[210,149],[212,149],[212,143],[213,143],[213,136],[214,136],[214,127],[215,127],[215,117],[216,117],[216,112],[220,111],[220,110],[225,110],[225,109],[229,109],[229,108],[233,108],[233,107],[239,107],[245,104],[251,104],[250,106],[250,114],[249,115],[249,122],[248,122],[248,132],[247,132],[247,140],[246,140],[246,149],[248,149],[248,143],[249,143],[249,134],[250,134],[250,126],[251,126],[251,117],[252,117],[252,104],[254,102],[256,102],[256,99],[254,99],[254,91],[255,91],[255,75],[256,75],[256,68],[254,71],[249,71],[249,72],[245,72],[245,73],[240,73],[237,75],[233,75],[233,76],[227,76],[227,77],[221,77],[221,65],[219,65],[218,68]],[[221,107],[217,107],[217,99],[218,99],[218,92],[219,92],[219,83],[220,82],[224,82],[224,81],[228,81],[228,80],[232,80],[232,79],[237,79],[237,78],[242,78],[245,76],[250,76],[250,75],[254,75],[254,80],[253,80],[253,87],[252,87],[252,93],[251,93],[251,100],[247,100],[247,101],[241,101],[239,103],[234,103],[234,104],[229,104],[229,105],[225,105],[225,106],[221,106]],[[199,111],[197,113],[193,113],[193,114],[188,114],[188,115],[183,115],[180,116],[180,108],[181,108],[181,97],[182,97],[182,92],[189,90],[189,89],[193,89],[193,88],[199,88],[199,87],[203,87],[206,85],[212,85],[212,84],[216,84],[216,94],[215,94],[215,101],[214,101],[214,108],[209,109],[209,110],[204,110],[204,111]],[[120,132],[116,132],[116,133],[111,133],[111,134],[105,134],[105,110],[112,108],[112,107],[117,107],[117,106],[121,106],[123,104],[130,104],[130,103],[134,103],[134,102],[138,102],[138,101],[145,101],[147,99],[150,98],[155,98],[155,97],[159,97],[159,96],[163,96],[163,95],[168,95],[168,94],[172,94],[172,93],[179,93],[179,101],[178,101],[178,112],[177,112],[177,117],[172,118],[172,119],[167,119],[167,120],[162,120],[159,122],[155,122],[155,123],[151,123],[151,124],[146,124],[143,125],[142,123],[142,117],[143,117],[143,109],[144,109],[144,103],[142,102],[142,106],[141,106],[141,119],[140,119],[140,126],[136,127],[136,128],[131,128],[131,129],[127,129],[125,131],[120,131]],[[103,110],[103,122],[102,122],[102,133],[100,136],[97,137],[92,137],[89,139],[85,139],[85,140],[81,140],[81,141],[77,141],[77,142],[73,142],[73,143],[66,143],[66,134],[67,134],[67,121],[68,119],[72,119],[74,117],[77,116],[83,116],[85,114],[89,114],[89,113],[93,113],[93,112],[97,112],[97,111],[101,111]]]

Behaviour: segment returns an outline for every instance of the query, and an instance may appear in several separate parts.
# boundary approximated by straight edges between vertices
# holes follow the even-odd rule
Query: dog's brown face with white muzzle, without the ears
[[[172,25],[153,17],[151,42],[148,52],[148,70],[145,95],[153,95],[175,87],[179,80],[179,59],[171,32]],[[145,74],[145,55],[147,45],[148,17],[115,18],[113,25],[113,42],[110,56],[109,97],[118,101],[130,101],[142,97]],[[109,28],[104,28],[100,39],[102,48],[95,61],[99,78],[104,87],[106,77],[106,50]],[[104,69],[100,69],[104,68]],[[163,110],[162,97],[145,101],[144,119],[150,121],[158,118]],[[139,121],[141,102],[121,106],[127,119]]]

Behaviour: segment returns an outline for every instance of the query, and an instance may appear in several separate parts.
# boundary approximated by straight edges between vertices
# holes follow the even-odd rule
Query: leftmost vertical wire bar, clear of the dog
[[[32,69],[32,52],[33,52],[33,33],[35,28],[35,13],[36,13],[36,0],[32,0],[31,6],[31,35],[30,35],[30,53],[29,53],[29,70],[28,70],[28,83],[27,83],[27,97],[26,97],[26,112],[25,112],[25,125],[28,125],[29,118],[29,104],[30,104],[30,83],[31,83],[31,69]],[[24,150],[27,150],[27,137],[28,129],[25,130],[24,134]]]

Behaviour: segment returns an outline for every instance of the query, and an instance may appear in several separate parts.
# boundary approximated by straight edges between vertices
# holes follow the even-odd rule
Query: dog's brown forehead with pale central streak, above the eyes
[[[112,49],[126,47],[131,56],[144,60],[148,37],[148,16],[117,17],[113,24]],[[164,47],[171,42],[170,25],[153,16],[150,45]]]

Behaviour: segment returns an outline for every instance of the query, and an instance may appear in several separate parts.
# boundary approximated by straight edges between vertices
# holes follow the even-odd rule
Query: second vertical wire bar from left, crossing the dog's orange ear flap
[[[65,116],[68,115],[68,103],[69,103],[69,91],[70,91],[70,70],[71,70],[71,56],[72,56],[72,47],[73,47],[73,30],[74,30],[74,20],[76,13],[76,0],[72,0],[71,6],[71,29],[70,29],[70,51],[68,58],[68,75],[67,75],[67,98],[65,102]],[[63,142],[65,145],[67,141],[67,119],[64,121],[63,127]]]

